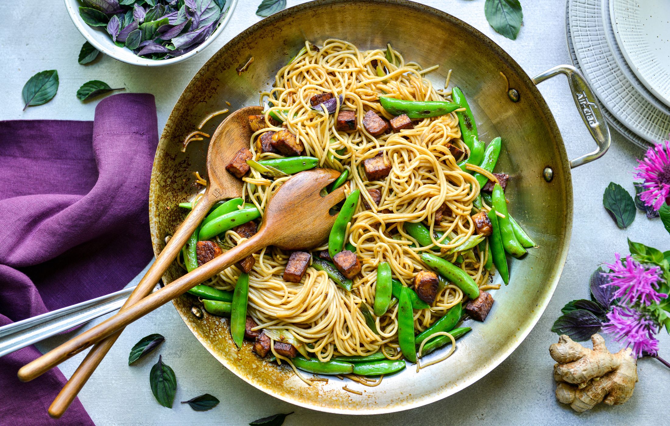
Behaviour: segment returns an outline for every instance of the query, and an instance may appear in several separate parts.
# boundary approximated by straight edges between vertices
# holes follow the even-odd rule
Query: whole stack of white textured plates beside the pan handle
[[[568,0],[567,44],[608,123],[649,147],[670,133],[670,0]]]

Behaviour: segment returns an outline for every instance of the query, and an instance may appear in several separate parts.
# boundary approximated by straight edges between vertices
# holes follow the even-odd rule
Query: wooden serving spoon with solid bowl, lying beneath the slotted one
[[[242,196],[242,181],[231,175],[226,170],[226,165],[230,163],[235,153],[242,148],[249,147],[249,140],[253,132],[249,128],[249,115],[261,114],[262,106],[247,106],[239,109],[226,117],[224,121],[216,128],[207,152],[207,175],[210,180],[204,197],[198,200],[196,208],[188,214],[188,217],[177,228],[176,232],[165,244],[156,261],[151,265],[149,271],[139,282],[135,291],[128,297],[127,301],[121,307],[124,311],[133,303],[147,297],[151,294],[155,285],[163,277],[163,273],[172,264],[179,255],[182,246],[186,244],[188,237],[196,230],[198,224],[207,215],[210,208],[220,200],[226,198],[237,198]],[[121,336],[123,330],[109,336],[109,338],[99,342],[86,355],[79,367],[70,377],[70,380],[62,388],[51,407],[49,415],[58,419],[70,407],[72,401],[81,391],[86,380],[93,374],[98,364],[105,358],[105,355]]]

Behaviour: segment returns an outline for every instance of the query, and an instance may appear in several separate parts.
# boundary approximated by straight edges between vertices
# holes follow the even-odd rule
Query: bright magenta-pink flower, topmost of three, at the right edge
[[[659,210],[663,202],[670,204],[670,141],[649,148],[645,158],[637,162],[634,176],[643,181],[645,188],[640,199],[654,210]]]

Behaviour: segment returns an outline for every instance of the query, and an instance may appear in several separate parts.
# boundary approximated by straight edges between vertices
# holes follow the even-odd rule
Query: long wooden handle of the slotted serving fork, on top
[[[121,309],[119,313],[113,315],[108,320],[105,320],[90,330],[72,338],[68,342],[58,346],[58,348],[54,348],[54,350],[47,352],[40,356],[40,358],[25,364],[25,366],[21,367],[19,370],[19,379],[23,382],[27,382],[40,376],[64,360],[78,354],[85,348],[88,348],[88,346],[96,344],[97,342],[100,342],[100,340],[107,338],[107,336],[119,332],[119,330],[122,330],[131,322],[143,317],[157,307],[179,297],[189,289],[192,289],[192,287],[195,287],[206,279],[210,279],[220,271],[245,259],[245,257],[252,253],[263,249],[263,247],[268,245],[267,239],[263,237],[263,234],[263,232],[255,234],[238,246],[235,246],[226,251],[226,253],[214,258],[214,260],[209,261],[190,273],[172,281],[172,283],[165,285],[162,289],[154,291],[151,295],[147,295],[133,305]]]

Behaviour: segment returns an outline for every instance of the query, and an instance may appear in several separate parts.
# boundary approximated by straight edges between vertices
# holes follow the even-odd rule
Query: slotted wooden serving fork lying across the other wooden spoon
[[[333,169],[312,169],[293,175],[271,198],[257,234],[21,367],[19,378],[26,382],[40,376],[84,348],[111,336],[139,317],[266,246],[274,245],[284,250],[319,246],[328,238],[336,218],[328,210],[344,199],[346,186],[324,197],[320,192],[339,175],[340,172]]]

